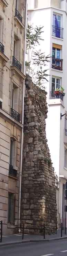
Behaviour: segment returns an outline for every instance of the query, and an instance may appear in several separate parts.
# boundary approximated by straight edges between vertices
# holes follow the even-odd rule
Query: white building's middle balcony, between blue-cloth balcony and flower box
[[[52,68],[56,70],[63,70],[63,59],[52,57]]]

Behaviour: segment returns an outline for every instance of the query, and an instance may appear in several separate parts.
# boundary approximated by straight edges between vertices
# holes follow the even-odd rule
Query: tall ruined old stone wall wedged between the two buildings
[[[44,222],[46,233],[55,232],[57,228],[55,176],[46,139],[45,118],[46,92],[33,85],[27,76],[21,219],[25,223],[26,232],[33,234],[42,233]]]

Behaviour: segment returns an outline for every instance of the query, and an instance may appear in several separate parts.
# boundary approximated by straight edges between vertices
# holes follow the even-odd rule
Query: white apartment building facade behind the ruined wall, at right
[[[44,26],[41,50],[50,54],[47,90],[46,137],[55,173],[59,179],[58,222],[65,225],[64,185],[67,180],[67,1],[28,0],[28,22]],[[61,92],[64,87],[64,93]],[[59,89],[60,92],[55,92]],[[56,93],[56,94],[55,94]],[[65,114],[62,118],[60,115]]]

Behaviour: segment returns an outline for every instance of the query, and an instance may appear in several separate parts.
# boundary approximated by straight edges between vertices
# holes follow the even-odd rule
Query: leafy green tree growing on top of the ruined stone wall
[[[48,82],[47,63],[49,62],[49,55],[45,56],[39,49],[43,27],[33,28],[28,25],[27,29],[27,54],[28,61],[26,61],[27,73],[32,77],[33,83],[44,88],[45,80]],[[38,50],[36,50],[38,47]]]

